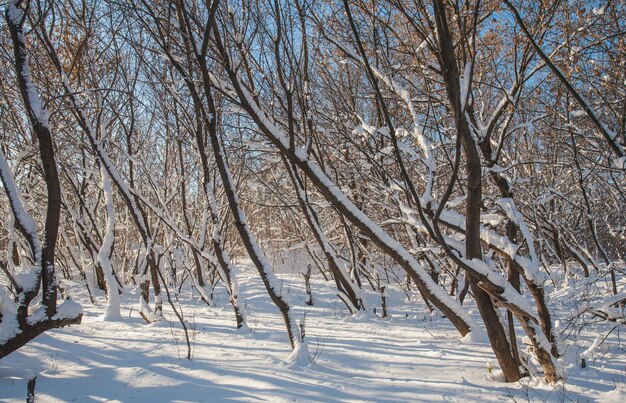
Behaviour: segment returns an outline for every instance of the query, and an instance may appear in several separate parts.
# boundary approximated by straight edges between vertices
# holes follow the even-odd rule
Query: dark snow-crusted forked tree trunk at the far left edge
[[[3,270],[15,290],[16,298],[11,300],[4,291],[1,294],[0,324],[6,330],[4,333],[6,336],[0,344],[0,358],[17,350],[46,330],[80,323],[82,318],[82,309],[73,301],[66,301],[57,306],[54,258],[61,212],[61,188],[49,114],[30,75],[23,30],[27,11],[28,4],[10,2],[7,4],[5,21],[13,43],[17,85],[32,132],[39,145],[39,156],[47,188],[47,208],[44,239],[41,242],[37,234],[37,225],[22,204],[11,169],[5,156],[0,152],[0,175],[11,204],[15,219],[14,225],[27,239],[34,261],[34,267],[28,273],[26,281],[18,282],[6,268]],[[29,314],[29,306],[40,291],[42,293],[41,309]]]

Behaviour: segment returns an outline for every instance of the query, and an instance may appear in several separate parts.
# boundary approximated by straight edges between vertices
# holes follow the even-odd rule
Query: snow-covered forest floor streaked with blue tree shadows
[[[313,363],[294,366],[279,314],[258,275],[243,266],[238,278],[251,332],[235,329],[223,289],[216,290],[217,307],[189,292],[179,296],[190,327],[191,360],[167,301],[166,320],[146,325],[137,315],[136,291],[127,289],[122,321],[102,322],[104,297],[94,305],[84,287],[70,287],[84,307],[83,323],[50,331],[0,361],[0,400],[23,401],[32,371],[42,402],[626,401],[624,326],[598,322],[566,332],[567,378],[558,385],[545,384],[540,375],[507,384],[499,380],[487,343],[462,341],[445,318],[407,300],[399,287],[388,288],[387,318],[373,312],[355,317],[321,277],[313,282],[315,305],[306,306],[299,274],[280,276],[294,312],[306,313]],[[562,315],[571,311],[567,301],[575,289],[553,293],[551,304]],[[366,297],[370,311],[378,306],[380,314],[379,295]],[[586,368],[580,368],[580,357],[586,357]]]

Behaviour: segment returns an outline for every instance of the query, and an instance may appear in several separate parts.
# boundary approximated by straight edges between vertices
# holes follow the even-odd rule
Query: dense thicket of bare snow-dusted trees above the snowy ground
[[[522,333],[558,380],[547,282],[596,278],[624,300],[624,13],[613,1],[8,1],[0,357],[80,321],[57,307],[63,279],[105,290],[108,319],[139,285],[147,322],[163,292],[191,286],[211,305],[221,284],[243,327],[241,258],[306,357],[273,268],[289,250],[350,313],[372,309],[362,289],[384,296],[403,273],[461,335],[486,327],[507,381],[530,368]],[[307,281],[308,264],[294,268]]]

